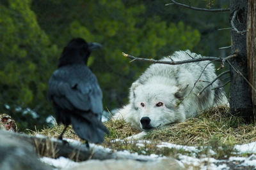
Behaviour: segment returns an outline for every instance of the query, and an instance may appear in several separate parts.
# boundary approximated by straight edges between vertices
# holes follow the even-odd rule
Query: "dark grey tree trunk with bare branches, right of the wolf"
[[[254,1],[254,0],[253,0]],[[231,16],[234,17],[234,26],[231,31],[231,53],[237,53],[237,57],[230,59],[230,113],[243,117],[246,122],[253,120],[252,98],[250,96],[250,87],[247,71],[247,50],[246,50],[246,18],[247,1],[231,0]],[[235,70],[236,69],[236,70]],[[246,79],[246,80],[245,80]]]

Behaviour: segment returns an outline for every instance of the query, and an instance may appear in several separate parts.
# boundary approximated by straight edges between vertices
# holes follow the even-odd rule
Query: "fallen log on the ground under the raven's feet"
[[[20,134],[18,132],[0,131],[1,138],[10,138],[16,141],[26,141],[35,147],[37,153],[41,156],[52,158],[66,157],[76,161],[83,161],[88,159],[132,159],[140,161],[151,161],[157,158],[147,157],[145,155],[138,155],[136,153],[115,152],[109,148],[102,146],[91,145],[90,149],[86,145],[76,143],[63,143],[54,138],[46,138],[44,136],[29,136],[27,134]]]

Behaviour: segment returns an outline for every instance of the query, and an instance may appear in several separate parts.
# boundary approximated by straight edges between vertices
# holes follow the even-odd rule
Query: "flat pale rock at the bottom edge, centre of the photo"
[[[161,169],[161,170],[175,170],[184,169],[182,163],[177,162],[175,159],[158,159],[155,161],[140,162],[137,160],[87,160],[81,162],[79,166],[74,166],[69,168],[70,170],[151,170],[151,169]],[[65,170],[69,170],[65,169]],[[64,170],[64,169],[63,169]]]

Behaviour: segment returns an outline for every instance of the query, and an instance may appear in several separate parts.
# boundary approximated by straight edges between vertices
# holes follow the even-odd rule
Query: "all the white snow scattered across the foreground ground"
[[[74,145],[81,145],[81,143],[79,141],[76,141],[74,139],[65,139],[68,142],[74,144]],[[115,141],[122,141],[120,139],[116,139]],[[143,143],[148,143],[150,141],[139,141],[139,143],[137,144],[137,146],[145,146]],[[103,146],[100,145],[94,145],[92,143],[90,143],[91,147],[100,147],[102,149],[111,151],[110,148],[103,148]],[[157,145],[158,147],[168,147],[168,148],[176,148],[177,150],[179,149],[183,149],[186,150],[188,152],[191,152],[192,156],[188,156],[188,155],[181,155],[179,154],[179,163],[183,164],[183,165],[187,165],[186,167],[191,167],[191,169],[193,169],[193,166],[195,167],[200,167],[200,169],[202,170],[206,170],[206,169],[214,169],[214,170],[223,170],[223,169],[232,169],[232,167],[230,168],[230,166],[251,166],[252,169],[255,168],[256,169],[256,142],[253,143],[248,143],[248,144],[244,144],[244,145],[235,145],[235,149],[237,150],[237,153],[239,153],[240,155],[243,153],[250,153],[252,155],[250,155],[250,157],[230,157],[228,160],[216,160],[214,158],[211,157],[204,157],[201,159],[198,159],[195,157],[196,154],[194,153],[198,153],[200,152],[200,150],[198,150],[198,147],[195,146],[182,146],[182,145],[175,145],[172,143],[160,143],[159,145]],[[138,153],[129,153],[127,150],[118,152],[121,154],[132,154],[132,155],[138,155]],[[211,154],[214,154],[214,152],[210,152]],[[151,154],[148,156],[145,155],[138,155],[138,157],[148,157],[152,160],[154,159],[162,159],[163,157],[156,155],[156,154]],[[60,157],[58,159],[50,159],[47,157],[43,157],[41,158],[42,162],[45,162],[47,164],[50,164],[51,166],[56,167],[56,169],[61,169],[63,167],[73,167],[76,166],[77,162],[74,162],[72,160],[66,159],[64,157]]]

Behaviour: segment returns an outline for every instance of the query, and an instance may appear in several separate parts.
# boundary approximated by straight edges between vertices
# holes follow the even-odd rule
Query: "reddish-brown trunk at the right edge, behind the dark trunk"
[[[256,113],[256,1],[248,0],[248,15],[247,15],[247,63],[248,63],[248,78],[252,87],[253,115]]]

